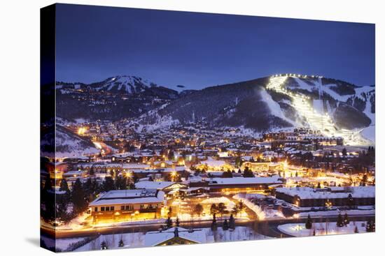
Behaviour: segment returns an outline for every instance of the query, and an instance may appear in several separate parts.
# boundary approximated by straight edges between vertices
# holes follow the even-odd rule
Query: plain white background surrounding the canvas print
[[[381,1],[62,1],[272,17],[376,23],[377,233],[198,246],[110,250],[104,255],[369,255],[384,248],[384,6]],[[48,255],[39,241],[39,8],[54,1],[1,1],[0,152],[2,255]],[[381,237],[382,236],[382,237]],[[93,252],[97,253],[97,252]],[[75,253],[73,255],[77,255]],[[83,253],[87,255],[89,253]],[[79,254],[80,255],[80,254]],[[102,255],[102,254],[100,254]]]

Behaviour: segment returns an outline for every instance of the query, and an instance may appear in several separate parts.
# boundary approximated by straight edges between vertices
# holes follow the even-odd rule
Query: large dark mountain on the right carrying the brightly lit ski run
[[[353,138],[374,126],[374,86],[285,74],[193,91],[130,121],[139,130],[204,120],[260,132],[309,127]],[[353,139],[351,139],[353,140]]]

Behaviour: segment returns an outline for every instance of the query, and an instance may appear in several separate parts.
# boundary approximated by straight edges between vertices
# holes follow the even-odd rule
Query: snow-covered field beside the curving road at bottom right
[[[289,223],[284,225],[279,225],[279,231],[288,234],[290,236],[313,236],[314,230],[316,231],[316,236],[326,235],[326,234],[353,234],[354,229],[358,229],[358,233],[365,233],[366,222],[356,221],[349,223],[346,227],[337,227],[337,223],[313,223],[311,229],[306,229],[304,223]]]

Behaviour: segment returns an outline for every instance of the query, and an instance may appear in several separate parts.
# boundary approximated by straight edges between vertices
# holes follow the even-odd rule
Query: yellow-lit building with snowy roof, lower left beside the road
[[[165,193],[156,189],[110,190],[90,203],[94,223],[100,219],[154,218],[164,206]]]

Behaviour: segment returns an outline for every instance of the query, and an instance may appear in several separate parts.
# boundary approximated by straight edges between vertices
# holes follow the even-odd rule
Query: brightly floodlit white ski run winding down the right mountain
[[[360,132],[363,129],[346,130],[337,128],[328,113],[320,113],[314,110],[314,107],[311,104],[312,99],[309,96],[283,88],[283,84],[288,77],[307,78],[306,75],[295,74],[273,75],[270,77],[267,89],[272,89],[277,93],[283,93],[289,96],[293,107],[297,111],[298,115],[307,123],[308,128],[311,128],[312,130],[319,130],[321,134],[326,137],[342,137],[345,144],[356,146],[372,144],[372,142],[366,140],[360,135]],[[319,80],[321,80],[321,78],[322,77],[318,77]],[[320,96],[323,95],[321,84],[318,87],[318,92]],[[326,104],[328,112],[330,112],[330,106],[328,106],[328,103]],[[300,126],[300,124],[298,124],[298,126]]]

